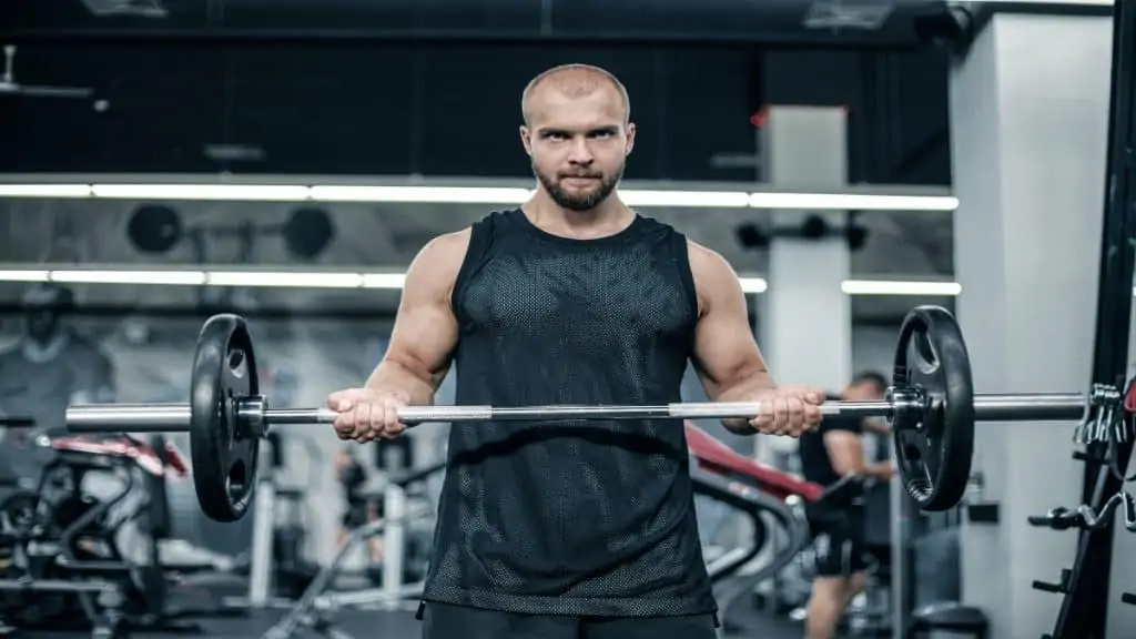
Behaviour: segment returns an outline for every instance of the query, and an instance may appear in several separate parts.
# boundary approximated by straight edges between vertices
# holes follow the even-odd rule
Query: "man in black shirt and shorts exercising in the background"
[[[855,375],[852,383],[832,399],[879,401],[887,380],[879,373]],[[867,464],[860,435],[866,424],[859,417],[826,417],[820,428],[801,435],[801,472],[804,479],[832,486],[844,478],[888,479],[889,463]],[[878,430],[878,426],[871,430]],[[805,507],[817,551],[817,574],[809,598],[808,639],[829,639],[841,616],[864,586],[863,503],[859,482],[851,492],[833,501]]]

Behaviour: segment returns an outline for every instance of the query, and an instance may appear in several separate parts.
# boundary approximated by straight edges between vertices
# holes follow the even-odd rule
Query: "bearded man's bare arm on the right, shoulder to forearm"
[[[712,401],[740,401],[776,384],[750,329],[745,293],[733,267],[717,252],[688,242],[699,298],[692,360]],[[738,434],[753,434],[745,420],[724,420]]]

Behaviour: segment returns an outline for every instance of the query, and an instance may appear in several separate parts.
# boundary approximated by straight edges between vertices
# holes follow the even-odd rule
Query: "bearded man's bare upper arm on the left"
[[[468,235],[454,233],[426,246],[407,271],[402,299],[384,359],[423,379],[445,375],[458,342],[450,293],[465,259]]]

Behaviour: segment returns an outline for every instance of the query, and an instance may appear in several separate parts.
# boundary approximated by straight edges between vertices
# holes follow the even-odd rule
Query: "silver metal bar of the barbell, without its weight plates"
[[[289,424],[329,424],[339,413],[328,408],[268,408],[264,398],[236,398],[247,437],[264,437],[267,428]],[[1087,409],[1084,393],[1003,393],[975,397],[975,417],[980,422],[1080,420]],[[826,416],[886,417],[904,412],[922,412],[914,398],[885,401],[826,401]],[[398,412],[408,426],[429,422],[586,421],[586,420],[728,420],[752,418],[761,404],[703,401],[665,406],[407,406]],[[189,432],[189,404],[94,404],[67,409],[67,430],[73,433]],[[261,425],[262,431],[254,430]]]

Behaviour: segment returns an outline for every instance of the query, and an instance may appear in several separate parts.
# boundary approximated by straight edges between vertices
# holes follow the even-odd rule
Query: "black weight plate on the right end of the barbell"
[[[962,330],[949,310],[920,306],[903,320],[893,387],[921,393],[922,412],[896,412],[895,456],[908,495],[924,511],[962,500],[975,449],[975,384]]]

